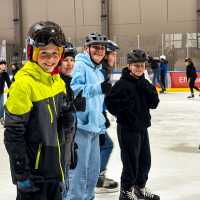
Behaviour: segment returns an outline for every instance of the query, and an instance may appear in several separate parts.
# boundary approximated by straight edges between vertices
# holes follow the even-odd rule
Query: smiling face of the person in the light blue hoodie
[[[90,54],[95,63],[100,64],[105,56],[106,47],[101,44],[93,44],[87,47],[86,51]]]

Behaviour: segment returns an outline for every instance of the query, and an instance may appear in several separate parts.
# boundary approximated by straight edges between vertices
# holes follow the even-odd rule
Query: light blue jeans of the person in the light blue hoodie
[[[69,190],[65,200],[93,200],[100,173],[99,134],[77,129],[78,163],[69,172]]]

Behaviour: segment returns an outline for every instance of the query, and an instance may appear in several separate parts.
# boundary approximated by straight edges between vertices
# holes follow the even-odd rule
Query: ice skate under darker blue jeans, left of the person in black
[[[108,179],[105,176],[105,172],[101,173],[96,185],[96,193],[111,193],[118,192],[118,183],[112,179]]]

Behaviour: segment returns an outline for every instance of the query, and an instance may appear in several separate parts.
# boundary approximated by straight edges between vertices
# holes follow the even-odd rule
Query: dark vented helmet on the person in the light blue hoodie
[[[92,44],[107,44],[107,38],[105,35],[100,33],[89,33],[85,38],[85,45],[90,46]]]

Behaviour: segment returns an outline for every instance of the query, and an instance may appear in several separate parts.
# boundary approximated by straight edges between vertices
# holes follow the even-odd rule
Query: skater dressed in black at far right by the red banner
[[[196,68],[191,58],[185,58],[185,65],[187,82],[191,92],[191,95],[187,98],[194,98],[194,89],[200,92],[200,89],[195,85],[195,80],[197,78]]]

